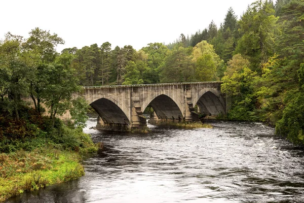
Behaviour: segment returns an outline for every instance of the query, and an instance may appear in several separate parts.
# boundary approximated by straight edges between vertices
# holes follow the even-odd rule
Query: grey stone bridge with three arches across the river
[[[131,130],[146,127],[143,111],[154,109],[151,122],[198,121],[206,115],[226,113],[226,101],[220,92],[221,82],[167,83],[83,87],[84,96],[99,114],[97,128]]]

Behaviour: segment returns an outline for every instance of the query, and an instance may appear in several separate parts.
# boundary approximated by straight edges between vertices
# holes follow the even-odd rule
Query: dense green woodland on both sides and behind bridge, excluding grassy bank
[[[24,94],[32,96],[38,114],[45,103],[54,124],[56,114],[83,106],[69,102],[80,86],[222,81],[222,92],[233,98],[227,119],[267,122],[304,144],[303,0],[257,1],[240,19],[230,8],[220,25],[211,21],[190,37],[138,51],[104,42],[57,53],[63,43],[39,28],[28,39],[7,34],[0,44],[3,115],[18,119]]]

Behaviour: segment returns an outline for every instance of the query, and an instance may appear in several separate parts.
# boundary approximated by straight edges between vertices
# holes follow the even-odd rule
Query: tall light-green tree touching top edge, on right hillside
[[[260,65],[274,54],[274,43],[278,28],[273,5],[268,1],[254,2],[239,21],[242,37],[238,41],[237,53],[249,56],[252,70],[260,74]]]

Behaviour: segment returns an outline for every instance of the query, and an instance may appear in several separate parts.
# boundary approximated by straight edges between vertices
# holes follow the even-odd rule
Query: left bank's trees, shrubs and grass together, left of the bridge
[[[82,131],[88,105],[72,99],[81,90],[72,55],[59,55],[59,43],[40,29],[0,42],[0,201],[83,176],[81,155],[97,151]],[[28,95],[34,108],[22,100]],[[65,124],[56,116],[67,110],[72,121]]]

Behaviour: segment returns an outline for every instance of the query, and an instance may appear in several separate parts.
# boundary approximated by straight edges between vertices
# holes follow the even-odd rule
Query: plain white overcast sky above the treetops
[[[191,36],[213,19],[219,27],[232,7],[240,18],[254,0],[1,0],[0,39],[10,31],[28,37],[39,27],[57,33],[68,47],[104,42],[132,45],[136,50],[148,43],[169,44],[181,33]]]

